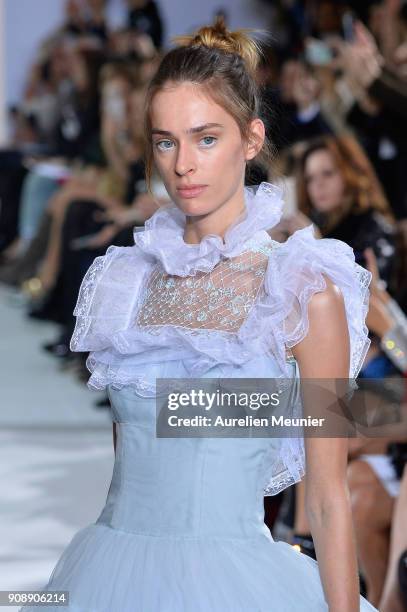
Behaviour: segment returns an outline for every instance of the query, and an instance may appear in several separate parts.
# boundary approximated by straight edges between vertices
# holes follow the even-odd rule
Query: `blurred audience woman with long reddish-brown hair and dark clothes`
[[[364,250],[373,248],[380,278],[388,282],[395,257],[394,217],[356,140],[325,135],[310,142],[300,159],[297,185],[298,208],[321,235],[349,244],[362,265]]]

